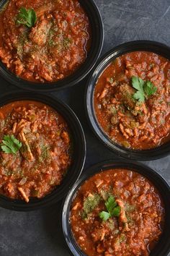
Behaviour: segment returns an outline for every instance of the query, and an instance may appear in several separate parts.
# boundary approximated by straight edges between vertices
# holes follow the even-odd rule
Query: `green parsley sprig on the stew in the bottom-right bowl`
[[[107,211],[102,211],[99,213],[99,217],[102,218],[103,221],[107,221],[110,217],[119,217],[121,208],[117,206],[117,202],[115,201],[115,197],[111,196],[105,202]]]

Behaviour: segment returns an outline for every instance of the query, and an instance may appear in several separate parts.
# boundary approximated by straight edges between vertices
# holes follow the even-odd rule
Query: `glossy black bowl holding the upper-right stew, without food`
[[[169,155],[170,142],[161,145],[158,148],[153,148],[149,150],[131,150],[125,148],[122,145],[118,145],[117,143],[114,143],[112,140],[110,140],[110,138],[100,127],[94,111],[94,88],[99,76],[102,74],[102,72],[104,72],[104,69],[106,69],[107,66],[114,59],[116,59],[118,56],[121,56],[122,54],[126,54],[132,51],[151,51],[170,60],[170,48],[162,43],[156,43],[153,41],[138,40],[124,43],[120,46],[113,48],[111,51],[105,54],[102,59],[99,60],[98,64],[93,69],[93,72],[89,77],[85,99],[86,114],[87,118],[89,119],[91,128],[94,130],[97,137],[99,137],[99,139],[104,142],[104,145],[106,145],[110,150],[117,153],[117,155],[139,161],[154,160]]]

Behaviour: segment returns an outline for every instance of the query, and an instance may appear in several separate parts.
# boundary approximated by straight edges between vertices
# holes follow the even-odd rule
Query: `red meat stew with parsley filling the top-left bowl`
[[[89,51],[89,18],[78,0],[11,0],[0,24],[0,59],[24,80],[61,80]]]

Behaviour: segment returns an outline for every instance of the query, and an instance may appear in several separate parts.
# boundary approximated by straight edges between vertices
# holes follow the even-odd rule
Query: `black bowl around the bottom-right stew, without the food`
[[[170,252],[170,187],[166,183],[166,181],[153,171],[151,168],[144,166],[140,163],[134,163],[129,161],[105,161],[103,163],[98,163],[97,165],[91,166],[88,168],[81,178],[73,185],[72,189],[68,192],[66,200],[63,204],[63,215],[62,215],[62,226],[63,226],[63,234],[65,236],[66,242],[68,244],[69,249],[71,250],[74,256],[86,256],[84,252],[80,249],[78,244],[76,244],[76,240],[73,238],[73,234],[71,231],[71,225],[69,221],[70,210],[71,210],[71,202],[76,197],[76,192],[81,187],[84,182],[89,179],[90,176],[99,173],[99,171],[105,171],[110,168],[126,168],[133,171],[137,171],[139,174],[146,176],[152,184],[158,189],[162,200],[164,201],[164,207],[166,211],[165,216],[165,225],[163,234],[159,239],[156,247],[151,251],[151,256],[166,256]]]

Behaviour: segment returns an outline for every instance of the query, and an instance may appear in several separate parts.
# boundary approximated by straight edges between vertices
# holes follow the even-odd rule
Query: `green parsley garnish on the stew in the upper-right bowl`
[[[132,85],[137,90],[133,98],[139,102],[145,101],[145,99],[156,93],[157,90],[152,82],[144,81],[140,77],[132,77]]]

